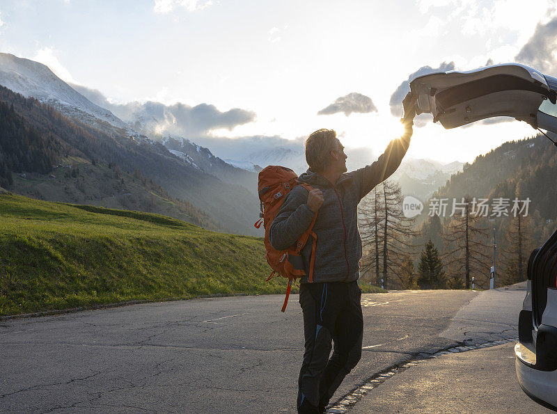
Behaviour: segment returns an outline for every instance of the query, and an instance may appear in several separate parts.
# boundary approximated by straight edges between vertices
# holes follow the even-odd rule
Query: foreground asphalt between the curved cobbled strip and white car
[[[514,347],[509,342],[425,360],[372,390],[350,414],[551,413],[520,389]]]

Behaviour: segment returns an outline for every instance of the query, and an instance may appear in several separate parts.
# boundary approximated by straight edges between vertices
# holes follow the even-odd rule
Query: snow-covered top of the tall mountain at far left
[[[108,122],[113,127],[126,128],[125,122],[111,111],[93,104],[58,78],[46,65],[13,54],[0,53],[0,85],[54,106],[66,116],[99,127]]]

